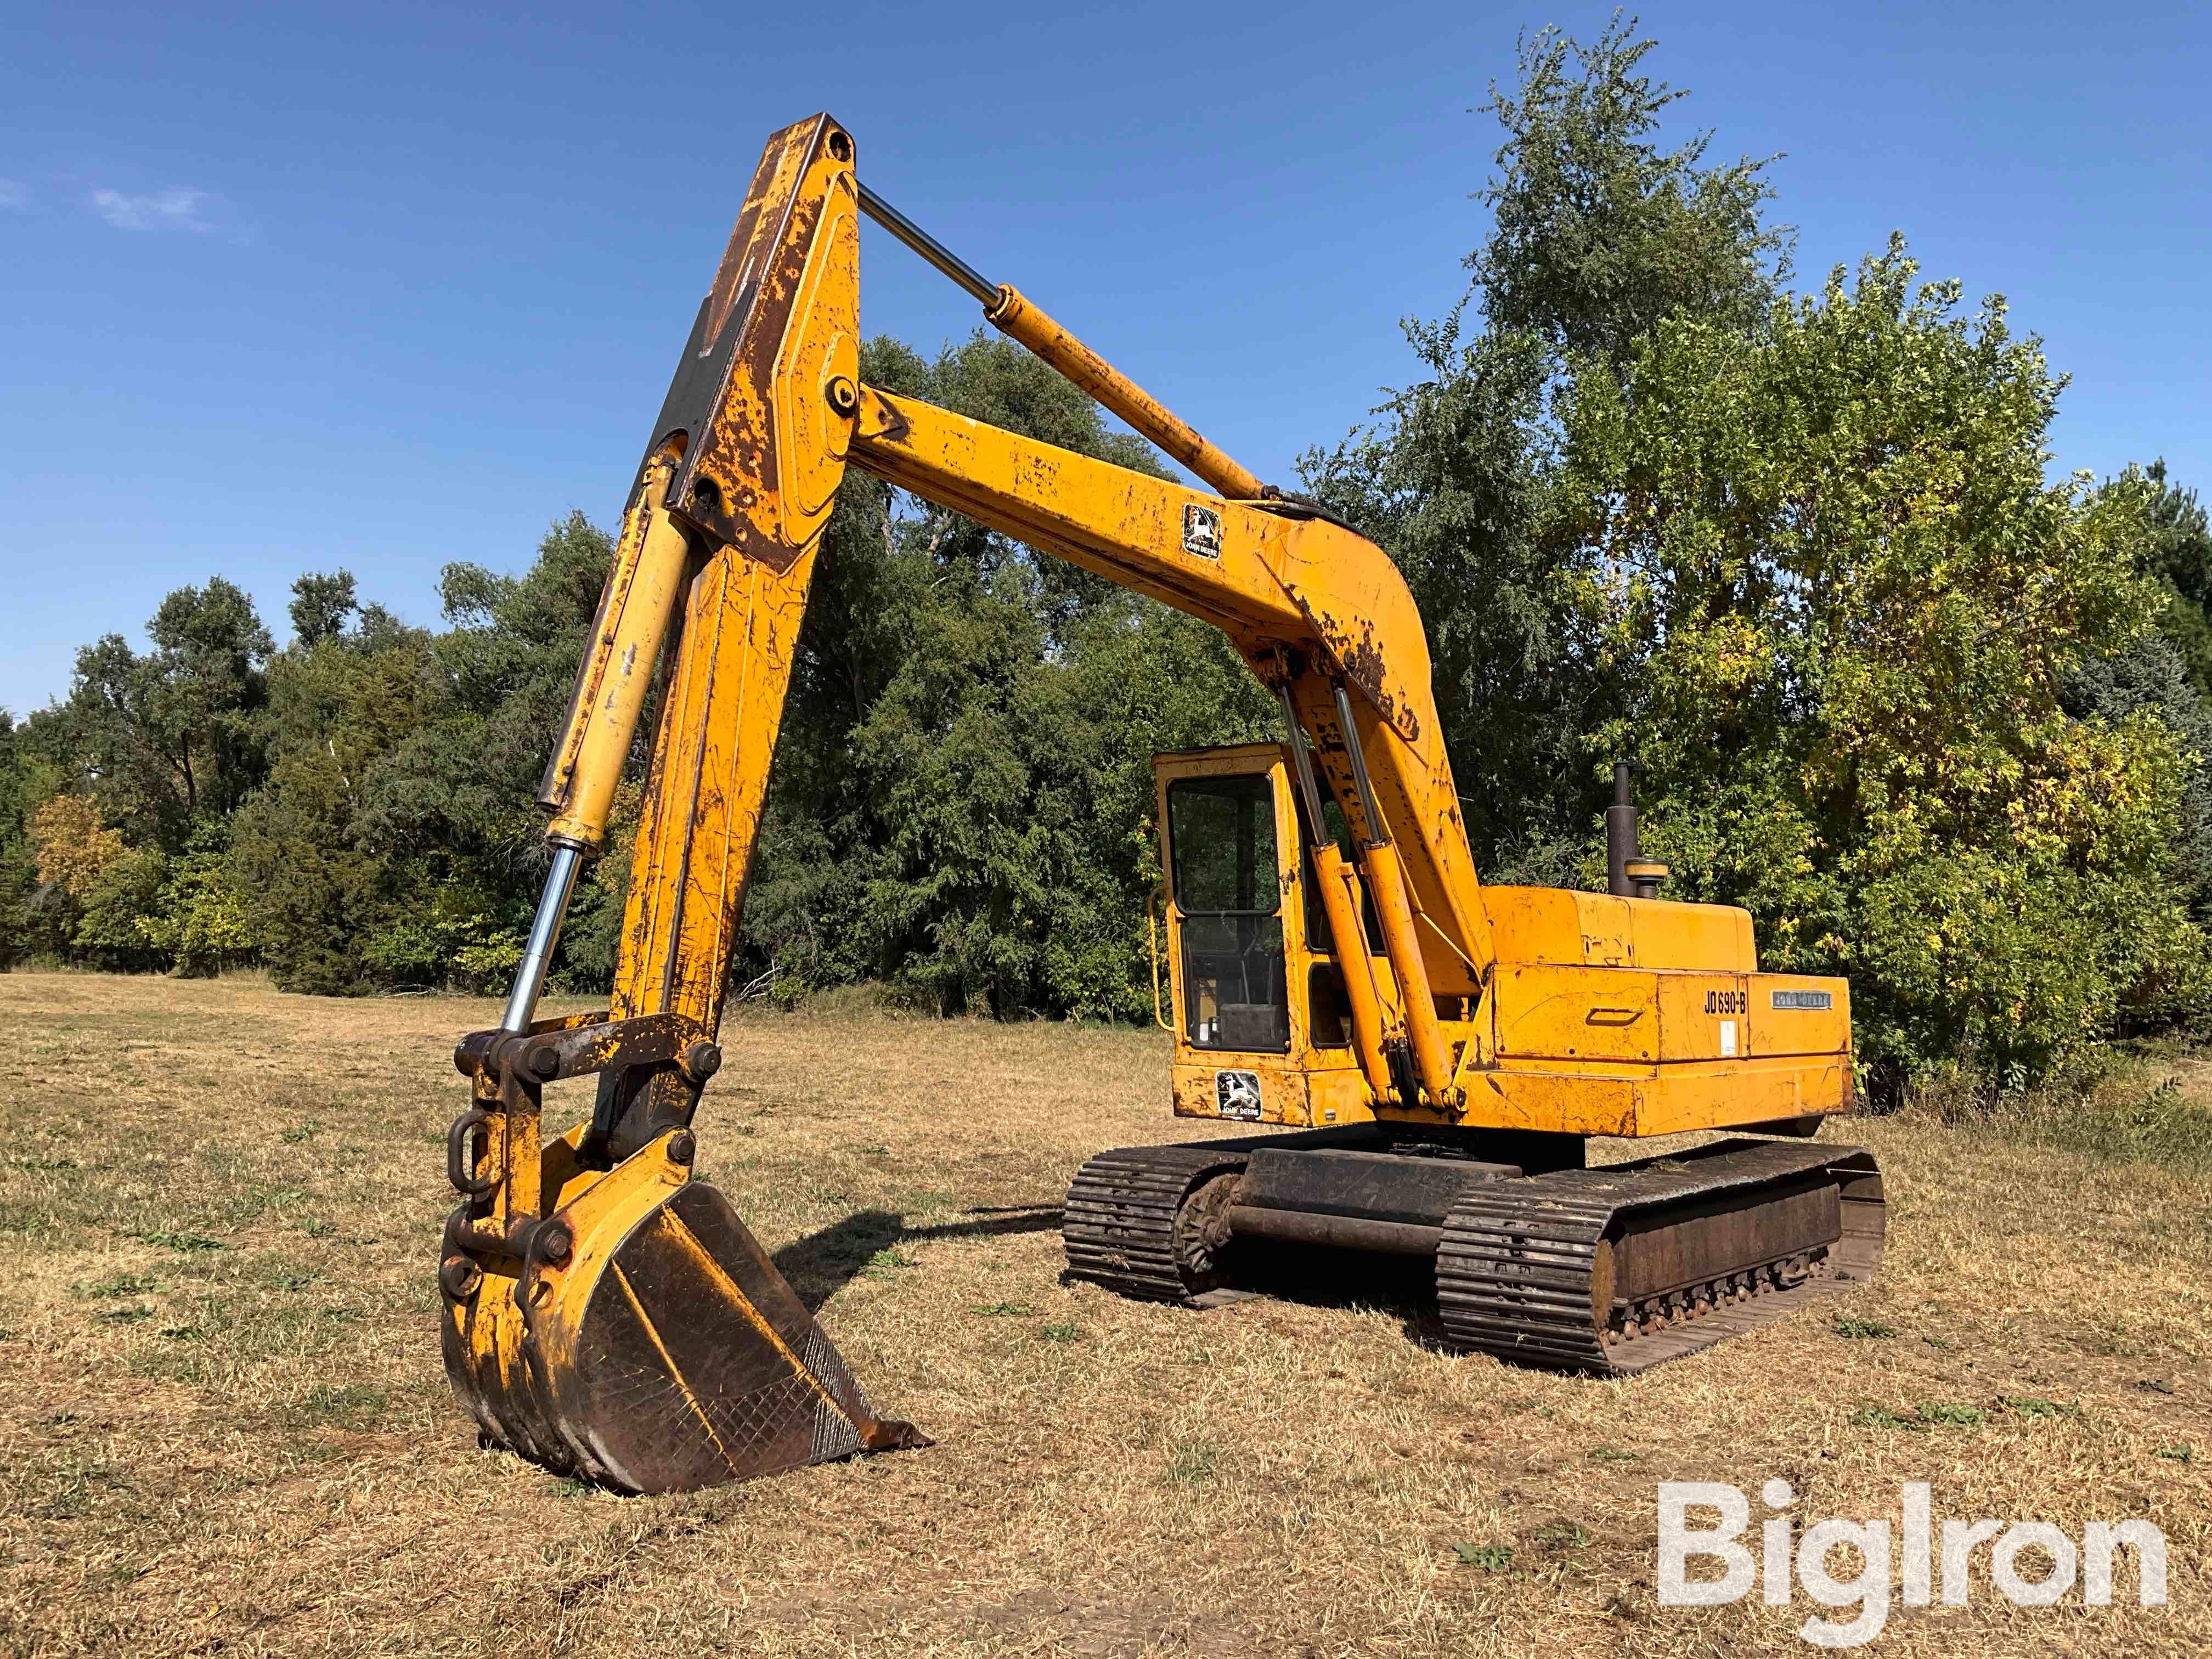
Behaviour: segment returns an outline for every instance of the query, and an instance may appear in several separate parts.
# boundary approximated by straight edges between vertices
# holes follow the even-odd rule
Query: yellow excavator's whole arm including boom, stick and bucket
[[[987,316],[1212,489],[1164,482],[858,380],[858,219],[874,212]],[[568,726],[540,792],[546,891],[502,1026],[456,1060],[445,1347],[489,1440],[655,1491],[863,1447],[876,1418],[728,1201],[688,1181],[745,878],[823,531],[847,467],[1219,626],[1307,734],[1354,827],[1318,872],[1374,1091],[1451,1093],[1442,987],[1473,995],[1489,929],[1391,562],[1261,487],[1011,288],[984,283],[854,173],[827,115],[770,137],[624,511]],[[606,841],[661,686],[606,1015],[535,1020],[582,863]],[[1305,750],[1301,748],[1301,761]],[[1389,973],[1354,949],[1360,898]],[[1427,929],[1425,942],[1418,929]],[[1436,964],[1431,969],[1431,962]],[[542,1144],[542,1088],[597,1077],[588,1124]],[[617,1405],[619,1402],[619,1405]]]

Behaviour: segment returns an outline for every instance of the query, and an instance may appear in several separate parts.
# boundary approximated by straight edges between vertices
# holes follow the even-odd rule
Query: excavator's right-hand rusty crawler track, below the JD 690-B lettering
[[[1829,1175],[1843,1237],[1639,1301],[1610,1294],[1608,1243],[1624,1219],[1663,1219],[1763,1186]],[[1562,1170],[1467,1192],[1444,1217],[1436,1301],[1460,1347],[1515,1365],[1632,1376],[1767,1325],[1874,1276],[1882,1177],[1871,1152],[1803,1141],[1723,1141],[1683,1159]]]

